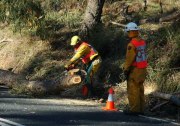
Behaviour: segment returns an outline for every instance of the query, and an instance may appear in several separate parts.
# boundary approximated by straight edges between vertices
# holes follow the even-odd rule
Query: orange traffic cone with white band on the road
[[[113,100],[113,94],[114,90],[112,88],[109,89],[109,96],[106,103],[106,107],[103,107],[103,110],[106,111],[117,111],[117,109],[114,107],[114,100]]]

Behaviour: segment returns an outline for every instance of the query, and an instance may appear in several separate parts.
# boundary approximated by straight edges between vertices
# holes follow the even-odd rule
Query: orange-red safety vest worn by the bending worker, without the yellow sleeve
[[[75,49],[75,51],[81,48],[81,46],[88,46],[90,48],[90,50],[82,57],[82,62],[84,64],[89,63],[89,61],[91,61],[95,56],[98,55],[98,52],[86,42],[83,42],[78,48]]]

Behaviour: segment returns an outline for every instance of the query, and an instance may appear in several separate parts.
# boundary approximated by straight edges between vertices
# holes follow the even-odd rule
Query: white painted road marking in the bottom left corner
[[[25,126],[7,119],[0,118],[0,126]]]

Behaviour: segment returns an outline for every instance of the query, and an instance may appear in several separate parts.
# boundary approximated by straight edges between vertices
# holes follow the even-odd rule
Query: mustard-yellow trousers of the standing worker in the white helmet
[[[147,75],[146,69],[133,67],[127,80],[127,93],[130,112],[144,112],[144,81]]]

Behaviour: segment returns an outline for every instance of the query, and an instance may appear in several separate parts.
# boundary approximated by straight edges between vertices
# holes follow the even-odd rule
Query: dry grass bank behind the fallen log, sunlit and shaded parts
[[[27,34],[0,31],[0,69],[25,74],[30,80],[53,80],[62,72],[66,50],[52,51],[47,41]]]

